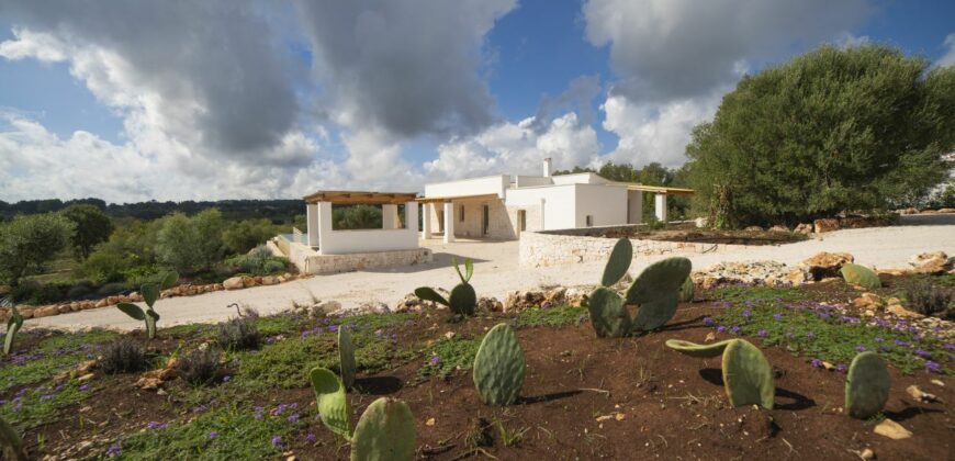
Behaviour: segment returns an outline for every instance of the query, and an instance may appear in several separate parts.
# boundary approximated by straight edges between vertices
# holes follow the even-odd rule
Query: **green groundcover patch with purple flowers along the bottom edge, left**
[[[299,428],[319,424],[306,423],[310,418],[304,414],[293,421],[291,415],[288,411],[273,416],[266,411],[216,408],[191,423],[170,423],[167,427],[135,432],[113,447],[124,460],[272,459],[292,441]]]

